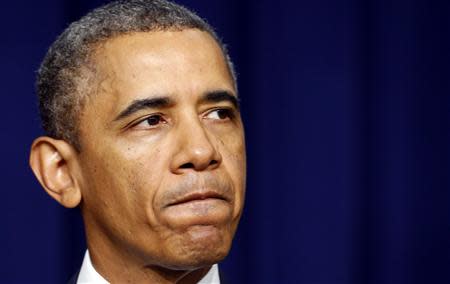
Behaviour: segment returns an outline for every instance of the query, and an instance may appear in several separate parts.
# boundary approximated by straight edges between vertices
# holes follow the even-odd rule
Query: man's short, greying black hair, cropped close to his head
[[[79,116],[95,81],[93,51],[105,41],[135,32],[198,29],[222,48],[229,72],[236,75],[226,46],[213,28],[187,8],[166,0],[119,0],[73,22],[51,45],[38,70],[36,91],[46,135],[81,150]]]

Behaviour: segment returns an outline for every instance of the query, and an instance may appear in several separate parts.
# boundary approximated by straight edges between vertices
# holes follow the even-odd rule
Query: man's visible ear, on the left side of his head
[[[31,146],[30,166],[45,191],[67,208],[78,206],[77,151],[64,140],[39,137]]]

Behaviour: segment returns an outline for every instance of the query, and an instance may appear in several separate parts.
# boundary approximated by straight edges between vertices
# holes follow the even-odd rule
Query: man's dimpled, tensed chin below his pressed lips
[[[232,236],[214,226],[197,225],[177,237],[171,269],[192,270],[222,261],[230,251]]]

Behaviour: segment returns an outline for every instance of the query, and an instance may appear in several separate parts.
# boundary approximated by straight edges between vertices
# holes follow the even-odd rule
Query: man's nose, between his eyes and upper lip
[[[217,168],[222,157],[212,143],[207,129],[196,119],[179,125],[177,145],[171,163],[171,170],[176,174],[188,171],[204,171]]]

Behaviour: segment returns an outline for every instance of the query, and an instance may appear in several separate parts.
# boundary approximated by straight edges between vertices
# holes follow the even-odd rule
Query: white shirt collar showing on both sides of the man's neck
[[[89,256],[89,251],[86,251],[84,254],[77,284],[109,284],[109,282],[95,270],[92,265],[91,257]],[[218,265],[214,264],[197,284],[220,284]]]

